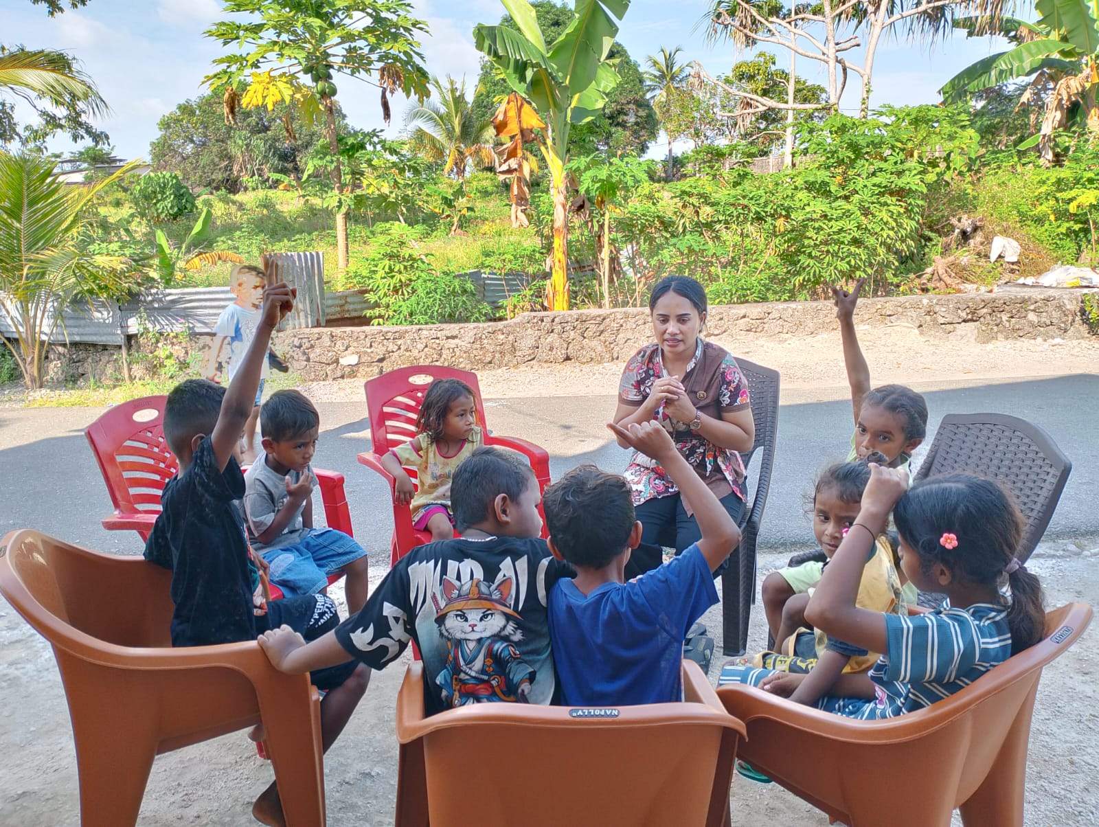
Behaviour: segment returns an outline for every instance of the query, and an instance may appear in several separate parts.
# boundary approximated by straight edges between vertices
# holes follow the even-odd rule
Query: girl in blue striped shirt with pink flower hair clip
[[[909,617],[855,603],[864,561],[890,511],[909,578],[946,595],[932,611]],[[1015,559],[1022,531],[1019,510],[993,482],[950,474],[909,490],[906,472],[873,466],[858,519],[809,598],[806,619],[882,654],[868,674],[843,675],[817,706],[862,719],[914,712],[1036,643],[1045,620],[1042,586]],[[789,695],[802,680],[776,673],[759,685]]]

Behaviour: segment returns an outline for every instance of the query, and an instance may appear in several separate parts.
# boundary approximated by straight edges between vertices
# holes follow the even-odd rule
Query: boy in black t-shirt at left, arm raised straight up
[[[271,331],[293,307],[295,290],[267,274],[262,319],[229,389],[188,379],[168,395],[164,437],[179,472],[160,497],[163,510],[145,545],[145,559],[171,569],[173,646],[209,646],[254,640],[268,628],[293,628],[310,638],[340,618],[324,595],[265,603],[256,594],[244,522],[234,500],[244,496],[244,475],[233,457],[259,385]],[[321,702],[326,750],[366,691],[369,670],[347,664],[311,675],[328,690]],[[256,731],[255,737],[262,737]],[[284,824],[278,789],[271,783],[252,814],[267,825]]]

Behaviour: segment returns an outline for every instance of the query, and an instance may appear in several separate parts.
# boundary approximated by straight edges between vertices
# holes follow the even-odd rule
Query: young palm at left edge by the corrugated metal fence
[[[103,189],[138,162],[87,187],[67,187],[41,155],[0,152],[0,309],[15,329],[3,343],[29,388],[42,387],[46,343],[62,308],[79,297],[124,295],[138,265],[89,253],[85,230]]]

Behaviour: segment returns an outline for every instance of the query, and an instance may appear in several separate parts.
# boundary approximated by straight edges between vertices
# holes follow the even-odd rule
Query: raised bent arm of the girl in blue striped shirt
[[[868,652],[888,650],[886,618],[880,611],[855,605],[863,569],[878,534],[886,529],[889,512],[908,490],[908,472],[870,465],[870,482],[863,492],[858,517],[851,525],[821,582],[809,598],[806,621],[829,637]]]

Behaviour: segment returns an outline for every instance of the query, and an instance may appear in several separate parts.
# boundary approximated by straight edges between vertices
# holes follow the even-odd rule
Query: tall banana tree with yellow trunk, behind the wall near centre
[[[553,192],[553,268],[546,290],[551,310],[568,309],[568,133],[595,118],[619,82],[607,59],[630,0],[575,0],[573,22],[546,44],[528,0],[500,0],[519,32],[479,24],[474,42],[514,91],[534,104],[546,123],[540,148]]]

